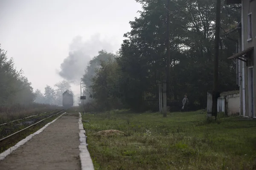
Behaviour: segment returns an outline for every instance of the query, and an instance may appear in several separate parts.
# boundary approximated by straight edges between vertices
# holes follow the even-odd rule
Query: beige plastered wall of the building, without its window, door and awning
[[[254,47],[253,55],[253,65],[256,65],[256,0],[251,1],[250,0],[242,0],[242,8],[243,8],[243,35],[244,35],[244,50],[249,48],[249,47]],[[248,20],[247,16],[248,14],[252,13],[252,40],[247,40],[248,39]],[[246,65],[246,64],[245,64]],[[252,65],[251,65],[252,66]],[[245,116],[251,116],[249,113],[249,95],[248,95],[248,67],[245,66],[244,69],[245,72]],[[254,92],[256,92],[256,68],[253,67],[253,89]],[[256,99],[256,93],[253,94],[254,99]],[[256,100],[254,100],[254,106],[256,105]]]

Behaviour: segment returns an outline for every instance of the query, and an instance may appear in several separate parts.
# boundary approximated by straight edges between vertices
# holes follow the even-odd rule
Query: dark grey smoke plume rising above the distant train
[[[102,49],[111,51],[113,47],[108,41],[100,40],[99,34],[84,42],[81,36],[75,37],[70,44],[69,55],[61,63],[61,71],[58,74],[69,82],[80,82],[88,62]]]

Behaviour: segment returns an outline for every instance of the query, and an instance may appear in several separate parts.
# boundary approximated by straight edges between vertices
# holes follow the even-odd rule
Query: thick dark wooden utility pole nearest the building
[[[218,56],[219,56],[219,43],[220,43],[220,24],[221,24],[221,0],[216,2],[216,26],[215,26],[215,57],[214,57],[214,79],[212,91],[212,116],[217,118],[217,100],[219,97],[218,92]]]

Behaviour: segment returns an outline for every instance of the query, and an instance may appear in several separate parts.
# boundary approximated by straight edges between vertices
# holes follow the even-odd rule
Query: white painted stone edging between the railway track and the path
[[[66,112],[65,112],[66,113]],[[18,142],[17,144],[15,144],[15,146],[10,147],[9,149],[7,149],[6,151],[4,151],[3,153],[0,153],[0,161],[2,161],[3,159],[6,158],[6,156],[8,156],[9,154],[12,153],[12,151],[16,150],[18,147],[20,147],[21,145],[25,144],[26,142],[28,142],[30,139],[32,139],[33,136],[38,135],[39,133],[41,133],[47,126],[49,126],[50,124],[52,124],[53,122],[55,122],[59,117],[61,117],[63,114],[62,113],[60,116],[58,116],[56,119],[54,119],[52,122],[47,123],[44,127],[42,127],[41,129],[39,129],[38,131],[36,131],[35,133],[27,136],[25,139],[22,139],[20,142]]]

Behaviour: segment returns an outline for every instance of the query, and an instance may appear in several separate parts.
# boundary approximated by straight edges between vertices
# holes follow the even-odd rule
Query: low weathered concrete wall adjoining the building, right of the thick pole
[[[240,111],[240,95],[233,94],[226,97],[227,100],[227,115],[239,115]]]

